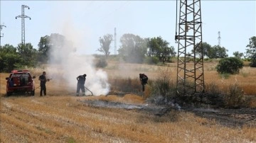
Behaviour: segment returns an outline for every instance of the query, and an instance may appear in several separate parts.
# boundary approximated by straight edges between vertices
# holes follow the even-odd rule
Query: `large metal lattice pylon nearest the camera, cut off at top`
[[[182,95],[203,92],[201,1],[180,0],[178,20],[177,92]]]

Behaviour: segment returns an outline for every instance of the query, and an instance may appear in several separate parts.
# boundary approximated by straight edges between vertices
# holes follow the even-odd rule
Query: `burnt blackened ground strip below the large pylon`
[[[149,115],[161,117],[171,110],[177,110],[178,112],[189,112],[198,115],[201,118],[207,118],[209,120],[215,120],[215,122],[225,127],[243,127],[250,126],[256,127],[256,109],[255,108],[240,108],[240,109],[226,109],[226,108],[175,108],[170,105],[136,105],[119,103],[112,101],[100,101],[100,100],[85,100],[81,101],[85,105],[89,105],[95,108],[122,108],[125,110],[137,110]]]

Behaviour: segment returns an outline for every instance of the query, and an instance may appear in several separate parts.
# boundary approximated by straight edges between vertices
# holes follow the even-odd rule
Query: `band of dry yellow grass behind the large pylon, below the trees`
[[[146,65],[146,64],[119,64],[119,63],[110,63],[106,71],[110,75],[110,79],[114,77],[130,77],[132,79],[139,79],[139,73],[144,73],[149,76],[149,80],[154,80],[158,78],[158,73],[161,70],[166,70],[166,68],[171,71],[171,79],[176,81],[176,63],[167,64],[168,67],[156,66],[156,65]],[[237,83],[245,91],[245,95],[256,96],[256,68],[252,67],[243,67],[240,70],[240,74],[230,75],[228,79],[222,77],[215,70],[217,63],[205,63],[204,64],[204,78],[205,84],[210,84],[214,82],[217,84],[220,89],[223,90],[223,93],[227,91],[230,85]],[[193,64],[188,64],[188,67],[192,67]],[[114,75],[114,76],[113,76]]]

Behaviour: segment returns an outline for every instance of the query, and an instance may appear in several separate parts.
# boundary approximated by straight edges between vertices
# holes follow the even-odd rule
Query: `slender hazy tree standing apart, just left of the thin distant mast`
[[[97,51],[103,52],[107,58],[110,55],[110,44],[113,41],[113,35],[107,34],[103,38],[100,37],[100,48]]]

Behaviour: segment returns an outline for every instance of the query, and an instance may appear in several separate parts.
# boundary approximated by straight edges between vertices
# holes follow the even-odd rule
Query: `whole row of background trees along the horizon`
[[[113,35],[106,34],[99,38],[100,47],[97,51],[105,55],[105,59],[110,56],[110,45],[113,42]],[[119,39],[121,45],[119,46],[118,55],[125,62],[129,63],[149,63],[157,64],[158,62],[171,62],[171,58],[176,56],[173,46],[169,42],[159,37],[141,38],[139,35],[126,33]],[[63,46],[75,47],[73,42],[65,38],[64,35],[52,33],[40,38],[38,42],[38,50],[33,48],[31,43],[24,45],[18,44],[17,47],[6,44],[0,47],[0,71],[11,71],[21,67],[36,67],[38,64],[47,64],[50,59],[50,51],[53,48],[61,48]],[[203,48],[203,55],[205,58],[217,59],[228,57],[228,50],[219,45],[211,46],[207,42],[203,42],[195,52],[196,55],[201,54]],[[242,52],[233,52],[234,57],[241,59],[247,58],[251,63],[251,67],[256,67],[256,37],[249,39],[249,44],[246,46],[245,54]],[[55,61],[58,63],[58,60]]]

